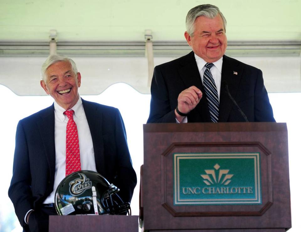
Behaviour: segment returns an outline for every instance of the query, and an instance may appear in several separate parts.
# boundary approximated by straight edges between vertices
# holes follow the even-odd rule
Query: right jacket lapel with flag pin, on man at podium
[[[242,66],[234,59],[223,56],[222,77],[219,97],[219,122],[228,120],[233,102],[228,96],[225,88],[225,83],[228,85],[229,92],[233,98],[237,93],[241,75],[243,72]]]

